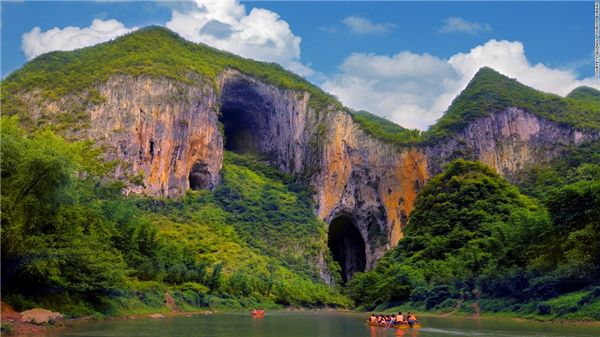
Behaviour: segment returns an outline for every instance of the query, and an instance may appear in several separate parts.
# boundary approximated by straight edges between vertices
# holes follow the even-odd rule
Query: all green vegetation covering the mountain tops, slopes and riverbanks
[[[150,48],[150,46],[152,46]],[[476,162],[457,160],[419,193],[405,238],[341,295],[320,281],[317,257],[339,270],[309,191],[260,158],[226,153],[214,191],[177,199],[125,197],[89,142],[50,131],[85,127],[105,98],[94,85],[114,74],[216,86],[225,69],[332,97],[278,65],[243,59],[149,27],[112,42],[52,52],[2,81],[2,296],[23,310],[68,315],[251,306],[410,305],[423,310],[515,312],[600,319],[600,145],[569,149],[528,168],[517,187]],[[70,94],[68,111],[30,115],[20,94]],[[398,145],[439,141],[477,118],[516,106],[578,128],[600,129],[597,90],[541,93],[483,68],[427,132],[351,112],[370,135]],[[18,125],[25,125],[30,133]],[[47,128],[45,128],[47,127]],[[310,146],[326,137],[319,124]],[[143,172],[128,177],[143,183]]]

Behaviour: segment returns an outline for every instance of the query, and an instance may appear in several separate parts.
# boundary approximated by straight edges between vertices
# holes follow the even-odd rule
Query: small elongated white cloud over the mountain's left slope
[[[42,32],[33,28],[21,37],[21,49],[27,59],[53,50],[73,50],[105,42],[136,28],[127,28],[117,20],[94,19],[89,27],[54,27]]]

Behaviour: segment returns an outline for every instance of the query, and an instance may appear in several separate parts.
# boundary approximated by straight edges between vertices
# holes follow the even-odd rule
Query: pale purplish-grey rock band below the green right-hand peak
[[[457,157],[479,160],[508,178],[519,170],[547,162],[569,145],[600,140],[600,131],[578,130],[510,107],[480,118],[446,142],[427,148],[431,173]]]

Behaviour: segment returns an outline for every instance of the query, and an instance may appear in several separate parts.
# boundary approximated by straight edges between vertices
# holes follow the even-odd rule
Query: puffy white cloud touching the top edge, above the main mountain
[[[313,73],[300,62],[301,38],[270,10],[254,8],[247,13],[236,0],[197,0],[191,8],[174,8],[166,26],[194,42],[260,61],[277,62],[300,75]]]

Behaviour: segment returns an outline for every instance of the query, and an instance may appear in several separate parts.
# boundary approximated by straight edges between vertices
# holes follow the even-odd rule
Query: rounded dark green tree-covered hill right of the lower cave
[[[513,254],[521,230],[542,227],[546,213],[490,168],[462,159],[432,178],[392,258],[418,266],[430,286],[473,280]]]

